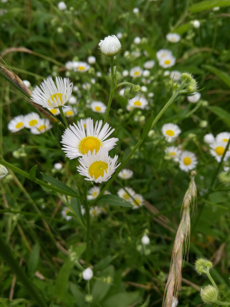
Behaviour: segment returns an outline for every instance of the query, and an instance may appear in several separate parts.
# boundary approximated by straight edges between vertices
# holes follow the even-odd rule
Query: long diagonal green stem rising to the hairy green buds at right
[[[148,129],[148,132],[155,126],[155,124],[158,122],[158,120],[160,119],[160,117],[163,115],[163,113],[167,110],[167,108],[171,105],[171,103],[173,103],[176,98],[178,97],[178,95],[180,95],[181,93],[183,93],[182,89],[183,89],[184,84],[182,84],[180,87],[178,87],[178,89],[176,91],[174,91],[172,97],[169,99],[169,101],[165,104],[165,106],[162,108],[162,110],[159,112],[159,114],[156,116],[156,118],[154,119],[154,121],[152,122],[151,127]],[[120,173],[120,171],[124,168],[124,166],[127,164],[127,162],[130,160],[130,158],[132,157],[132,155],[135,153],[135,151],[138,149],[138,147],[140,146],[140,144],[144,141],[144,139],[146,138],[146,136],[148,135],[148,132],[145,133],[144,136],[141,136],[140,140],[136,143],[135,147],[133,148],[133,150],[131,151],[131,153],[129,153],[128,157],[125,159],[125,161],[123,163],[121,163],[118,168],[116,173],[113,175],[113,177],[108,181],[108,183],[105,185],[105,187],[101,190],[101,192],[99,193],[99,195],[89,204],[89,206],[93,206],[97,200],[102,196],[102,194],[105,192],[105,190],[111,185],[111,183],[116,179],[117,175]]]

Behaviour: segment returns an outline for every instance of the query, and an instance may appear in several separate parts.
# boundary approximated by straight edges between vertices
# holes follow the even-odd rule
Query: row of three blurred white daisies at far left
[[[48,119],[40,118],[35,112],[27,115],[18,115],[8,123],[8,129],[11,132],[17,132],[23,128],[30,129],[32,134],[41,134],[51,129],[52,125]]]

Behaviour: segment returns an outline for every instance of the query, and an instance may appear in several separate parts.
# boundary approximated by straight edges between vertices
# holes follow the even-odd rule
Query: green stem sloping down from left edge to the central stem
[[[76,195],[76,194],[73,194],[73,193],[70,193],[70,192],[66,192],[62,189],[59,189],[57,188],[56,186],[54,185],[49,185],[48,183],[44,182],[44,181],[41,181],[40,179],[37,179],[34,180],[32,179],[28,173],[26,173],[25,171],[23,171],[22,169],[19,169],[17,166],[14,166],[12,164],[10,164],[9,162],[6,162],[5,160],[3,160],[1,157],[0,157],[0,164],[4,165],[5,167],[8,167],[9,169],[11,169],[13,172],[15,173],[18,173],[26,178],[28,178],[29,180],[32,180],[33,182],[37,183],[38,185],[42,185],[43,187],[45,188],[48,188],[52,191],[55,191],[55,192],[59,192],[61,194],[64,194],[64,195],[69,195],[71,197],[75,197],[75,198],[79,198],[79,199],[83,199],[84,197],[83,196],[79,196],[79,195]]]

